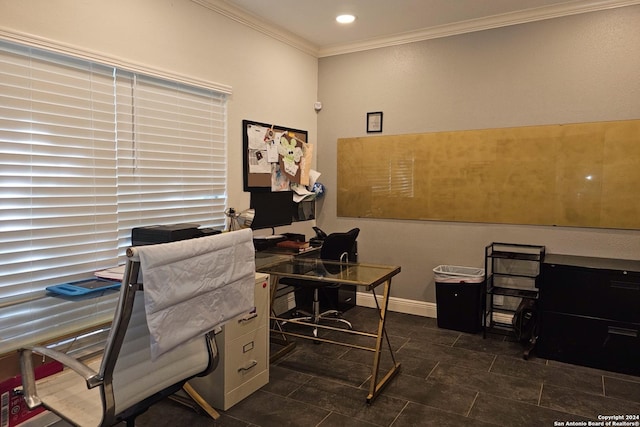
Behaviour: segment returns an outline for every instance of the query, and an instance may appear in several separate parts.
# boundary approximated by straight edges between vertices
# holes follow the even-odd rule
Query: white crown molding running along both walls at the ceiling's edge
[[[640,4],[640,0],[574,0],[552,6],[470,19],[355,43],[319,47],[281,27],[264,22],[258,16],[233,6],[225,0],[191,1],[318,58]]]

